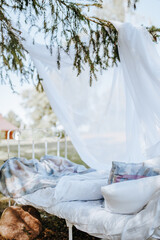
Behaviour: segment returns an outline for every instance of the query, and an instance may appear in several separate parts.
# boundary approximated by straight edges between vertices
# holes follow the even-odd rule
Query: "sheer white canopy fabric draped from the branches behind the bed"
[[[117,28],[121,62],[91,87],[87,69],[78,77],[73,71],[72,53],[62,53],[58,70],[56,49],[51,56],[29,38],[23,43],[77,152],[97,170],[160,155],[160,57],[145,28]]]

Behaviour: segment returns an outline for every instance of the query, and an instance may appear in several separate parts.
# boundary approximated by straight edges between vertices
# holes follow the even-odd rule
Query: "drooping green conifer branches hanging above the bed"
[[[128,0],[128,5],[135,7],[136,2]],[[21,43],[23,25],[34,36],[41,33],[51,54],[53,47],[57,47],[58,67],[61,51],[69,54],[72,45],[75,49],[73,67],[80,74],[83,65],[87,64],[91,84],[97,70],[107,69],[119,60],[114,26],[100,18],[87,16],[87,11],[95,7],[102,7],[102,0],[0,0],[1,82],[13,84],[10,72],[17,73],[22,82],[35,77],[35,74],[40,80]],[[14,25],[11,19],[17,19]],[[84,35],[87,41],[83,41]]]

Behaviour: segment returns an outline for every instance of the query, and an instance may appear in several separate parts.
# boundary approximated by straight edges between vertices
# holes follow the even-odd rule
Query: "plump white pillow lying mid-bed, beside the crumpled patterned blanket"
[[[56,202],[102,199],[101,187],[107,183],[106,173],[64,176],[55,188]]]

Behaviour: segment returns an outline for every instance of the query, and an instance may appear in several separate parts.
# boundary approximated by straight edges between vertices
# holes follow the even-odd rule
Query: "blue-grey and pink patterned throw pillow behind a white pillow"
[[[112,162],[108,184],[160,175],[160,168],[145,163]]]

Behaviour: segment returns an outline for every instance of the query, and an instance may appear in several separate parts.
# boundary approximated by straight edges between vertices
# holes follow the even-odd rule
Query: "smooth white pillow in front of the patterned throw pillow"
[[[113,183],[101,188],[105,208],[114,213],[139,212],[160,189],[160,175]]]

